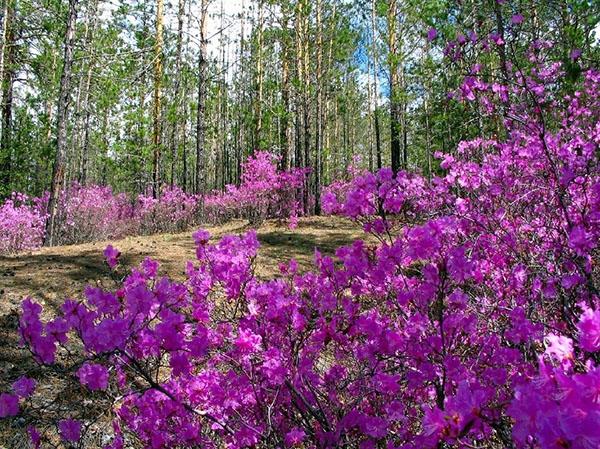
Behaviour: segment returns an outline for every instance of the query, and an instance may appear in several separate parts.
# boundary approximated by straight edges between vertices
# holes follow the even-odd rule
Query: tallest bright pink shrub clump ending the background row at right
[[[213,223],[245,218],[258,224],[267,218],[294,222],[301,212],[299,199],[306,169],[280,171],[277,157],[258,151],[242,165],[240,186],[228,185],[204,200],[206,217]]]

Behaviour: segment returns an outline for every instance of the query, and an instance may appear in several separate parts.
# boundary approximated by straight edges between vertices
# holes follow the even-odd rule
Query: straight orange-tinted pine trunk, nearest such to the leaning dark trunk
[[[161,153],[161,81],[163,64],[163,0],[156,1],[156,36],[154,41],[154,100],[152,105],[152,196],[158,198],[160,190]]]

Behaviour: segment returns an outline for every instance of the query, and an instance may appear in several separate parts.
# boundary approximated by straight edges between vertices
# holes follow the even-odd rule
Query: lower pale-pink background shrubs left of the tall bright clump
[[[42,245],[48,194],[29,199],[21,193],[0,206],[0,253],[17,253]],[[167,188],[158,199],[139,195],[137,203],[107,186],[65,189],[59,199],[56,242],[69,245],[126,235],[180,231],[198,219],[198,200],[178,187]]]

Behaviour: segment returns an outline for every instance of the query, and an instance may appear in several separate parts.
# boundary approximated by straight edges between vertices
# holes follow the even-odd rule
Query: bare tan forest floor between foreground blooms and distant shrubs
[[[234,221],[206,229],[214,241],[225,234],[243,233],[251,226],[246,221]],[[334,217],[301,219],[294,230],[288,229],[285,224],[268,221],[257,229],[257,235],[261,247],[256,260],[256,273],[261,278],[277,274],[279,264],[292,258],[296,259],[300,270],[308,270],[315,249],[332,255],[336,248],[365,237],[355,224]],[[31,356],[18,348],[17,314],[21,301],[31,297],[44,306],[48,317],[65,298],[81,297],[86,285],[114,288],[102,255],[109,243],[121,251],[120,262],[126,270],[148,256],[160,262],[160,274],[183,280],[186,262],[195,260],[192,230],[0,256],[0,392],[7,391],[17,376],[27,373],[36,377],[37,369]],[[0,422],[0,448],[16,447],[12,446],[14,441],[11,443],[11,434],[16,429],[3,424]]]

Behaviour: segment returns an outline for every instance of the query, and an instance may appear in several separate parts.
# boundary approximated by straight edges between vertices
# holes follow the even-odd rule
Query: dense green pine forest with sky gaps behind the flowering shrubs
[[[449,94],[470,73],[506,84],[543,49],[568,91],[600,56],[585,0],[3,0],[1,19],[0,198],[208,192],[268,150],[311,168],[318,213],[355,156],[431,175],[435,151],[502,135]]]

